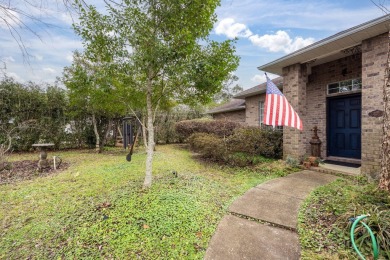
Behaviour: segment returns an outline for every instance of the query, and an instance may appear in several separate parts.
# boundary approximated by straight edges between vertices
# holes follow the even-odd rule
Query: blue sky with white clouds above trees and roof
[[[390,5],[390,0],[372,1]],[[258,66],[384,15],[372,1],[222,0],[210,38],[237,38],[240,65],[234,74],[239,78],[237,83],[248,89],[265,82]],[[51,84],[62,75],[65,66],[71,65],[73,51],[82,50],[83,46],[72,29],[74,16],[66,11],[61,0],[36,2],[37,6],[31,6],[27,1],[0,0],[0,5],[11,3],[12,8],[33,17],[16,12],[7,17],[0,9],[0,69],[20,82]],[[89,3],[104,9],[103,1]],[[13,31],[14,37],[8,25],[17,30]],[[16,41],[19,37],[21,41]],[[21,42],[28,58],[20,49]]]

